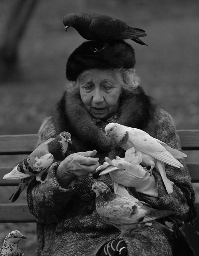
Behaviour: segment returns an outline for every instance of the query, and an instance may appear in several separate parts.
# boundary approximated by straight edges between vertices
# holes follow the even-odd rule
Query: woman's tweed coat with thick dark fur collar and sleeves
[[[124,156],[124,151],[111,140],[105,140],[105,125],[117,122],[136,127],[164,141],[170,147],[180,149],[179,138],[172,117],[156,106],[154,100],[146,96],[139,87],[135,94],[123,91],[119,109],[107,120],[91,117],[77,93],[65,92],[51,117],[47,117],[39,130],[38,144],[54,137],[61,131],[71,133],[73,145],[68,154],[86,150],[97,150],[100,164],[104,157],[113,159]],[[180,160],[184,164],[183,160]],[[95,193],[92,184],[102,181],[113,192],[109,174],[105,176],[88,175],[76,178],[67,189],[60,187],[56,178],[59,162],[49,168],[47,182],[40,184],[33,180],[27,189],[27,203],[37,223],[37,256],[88,256],[94,255],[97,248],[114,238],[119,231],[105,223],[95,208]],[[181,190],[183,186],[194,200],[193,187],[186,166],[178,169],[166,166],[167,177],[174,182],[174,191],[168,194],[160,174],[154,169],[158,198],[139,193],[142,201],[158,209],[175,211],[185,219],[189,207]],[[170,238],[162,231],[151,227],[140,227],[130,236],[124,236],[128,255],[172,255]]]

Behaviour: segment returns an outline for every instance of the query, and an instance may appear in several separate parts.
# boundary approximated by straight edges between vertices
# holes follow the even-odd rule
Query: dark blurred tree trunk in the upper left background
[[[18,47],[38,0],[15,0],[0,44],[0,82],[20,76]]]

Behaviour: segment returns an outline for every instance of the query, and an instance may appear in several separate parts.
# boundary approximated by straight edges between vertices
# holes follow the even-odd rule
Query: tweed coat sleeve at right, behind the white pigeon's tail
[[[157,113],[158,124],[156,127],[156,139],[163,141],[168,146],[181,150],[179,137],[172,117],[164,110],[159,109]],[[153,174],[157,182],[158,198],[148,197],[140,194],[142,199],[157,209],[172,210],[180,219],[185,219],[189,213],[189,206],[181,188],[183,188],[194,202],[195,194],[191,184],[191,177],[184,160],[179,160],[183,168],[176,168],[165,164],[167,178],[174,182],[173,193],[168,194],[157,170]]]

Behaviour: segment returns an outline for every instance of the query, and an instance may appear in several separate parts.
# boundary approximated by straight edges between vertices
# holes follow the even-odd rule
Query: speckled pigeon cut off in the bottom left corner
[[[22,250],[18,247],[18,243],[23,238],[26,239],[18,230],[8,233],[4,239],[2,248],[0,248],[0,256],[24,256]]]

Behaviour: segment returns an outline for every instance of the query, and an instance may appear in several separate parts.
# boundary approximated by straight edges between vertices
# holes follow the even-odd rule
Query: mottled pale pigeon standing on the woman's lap
[[[154,221],[173,214],[173,211],[156,210],[142,201],[133,201],[123,195],[117,195],[103,182],[92,186],[96,193],[96,210],[107,223],[121,231],[121,235],[130,234],[137,227],[154,227],[172,233],[168,227]]]

